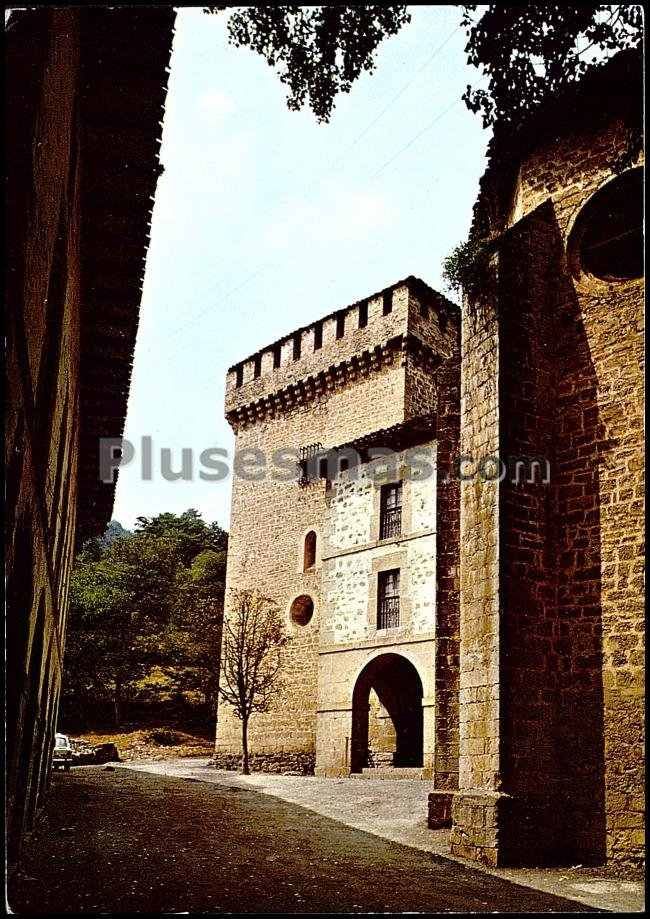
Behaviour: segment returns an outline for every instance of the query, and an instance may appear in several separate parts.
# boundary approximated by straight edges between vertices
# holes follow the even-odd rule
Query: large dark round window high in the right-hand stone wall
[[[612,179],[580,211],[569,243],[574,266],[605,281],[643,277],[643,170]]]

